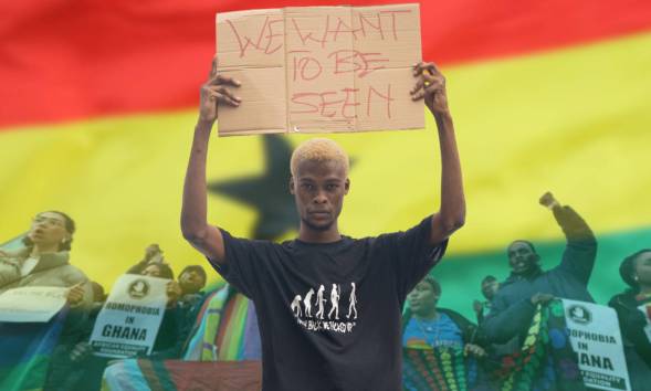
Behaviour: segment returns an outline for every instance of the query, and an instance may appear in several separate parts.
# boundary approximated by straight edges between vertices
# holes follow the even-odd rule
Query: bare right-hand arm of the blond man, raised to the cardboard
[[[411,98],[424,98],[424,104],[434,116],[441,149],[441,207],[432,218],[430,243],[448,239],[465,222],[465,198],[461,162],[454,138],[454,125],[448,107],[445,77],[433,63],[418,63],[413,67],[418,78],[411,89]]]

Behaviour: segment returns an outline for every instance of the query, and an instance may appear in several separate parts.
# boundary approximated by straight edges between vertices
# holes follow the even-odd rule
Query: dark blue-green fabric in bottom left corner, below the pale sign
[[[48,323],[0,323],[0,390],[40,390],[67,315]]]

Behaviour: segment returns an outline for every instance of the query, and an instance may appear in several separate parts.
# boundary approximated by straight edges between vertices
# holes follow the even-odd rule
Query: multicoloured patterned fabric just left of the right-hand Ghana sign
[[[585,390],[560,300],[538,305],[521,351],[493,366],[502,391]]]

